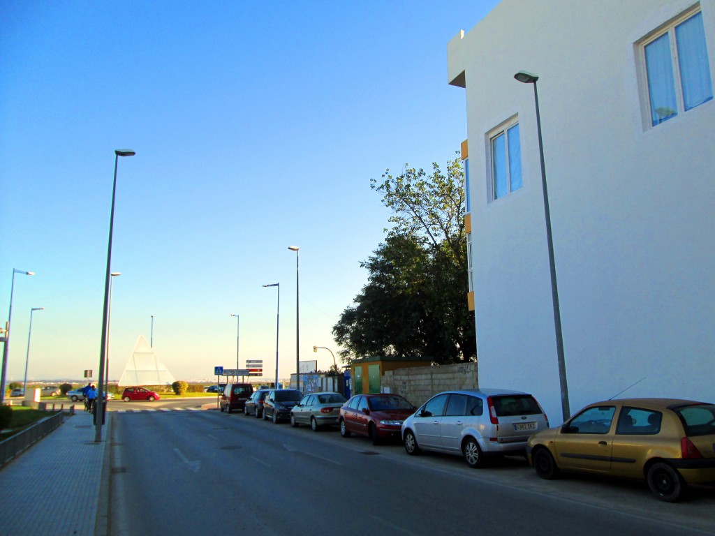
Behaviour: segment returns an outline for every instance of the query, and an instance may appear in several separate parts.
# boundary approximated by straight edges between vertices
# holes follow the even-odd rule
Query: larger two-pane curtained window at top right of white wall
[[[691,11],[649,36],[642,49],[653,126],[713,98],[700,11]]]

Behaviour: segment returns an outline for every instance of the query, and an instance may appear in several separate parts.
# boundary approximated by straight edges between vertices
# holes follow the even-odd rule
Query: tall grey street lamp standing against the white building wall
[[[548,244],[548,269],[551,272],[551,300],[553,302],[553,326],[556,331],[556,356],[558,359],[558,381],[561,384],[561,412],[566,422],[571,417],[568,407],[568,383],[566,382],[566,361],[563,357],[563,334],[561,333],[561,309],[558,307],[558,285],[556,284],[556,263],[553,259],[553,237],[551,235],[551,212],[548,209],[548,189],[546,188],[546,166],[543,162],[543,142],[541,139],[541,114],[538,109],[538,76],[528,71],[519,71],[514,78],[523,84],[533,84],[536,104],[536,131],[538,133],[538,155],[541,159],[541,192],[543,193],[543,212],[546,217],[546,244]]]

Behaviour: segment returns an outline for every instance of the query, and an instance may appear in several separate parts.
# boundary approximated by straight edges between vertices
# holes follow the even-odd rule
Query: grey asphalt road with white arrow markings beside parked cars
[[[641,484],[546,482],[457,457],[215,411],[114,414],[110,533],[715,534],[715,490],[666,505]],[[256,532],[257,531],[257,532]]]

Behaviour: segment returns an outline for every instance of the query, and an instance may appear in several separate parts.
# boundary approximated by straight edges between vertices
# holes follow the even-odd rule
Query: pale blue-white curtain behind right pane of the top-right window
[[[703,14],[691,16],[675,29],[683,101],[686,110],[713,98],[705,45]]]

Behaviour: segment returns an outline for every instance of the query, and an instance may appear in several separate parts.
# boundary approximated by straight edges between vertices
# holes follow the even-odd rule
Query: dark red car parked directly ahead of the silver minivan
[[[340,435],[366,435],[379,445],[386,439],[400,439],[403,421],[415,407],[399,394],[356,394],[340,408]]]

